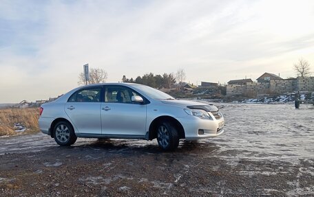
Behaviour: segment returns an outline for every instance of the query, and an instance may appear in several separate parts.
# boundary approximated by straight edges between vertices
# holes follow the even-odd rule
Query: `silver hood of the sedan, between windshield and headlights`
[[[171,105],[178,105],[186,108],[191,109],[202,109],[207,112],[216,112],[218,111],[218,108],[214,106],[213,104],[204,104],[201,102],[193,102],[188,100],[162,100],[164,104],[171,104]]]

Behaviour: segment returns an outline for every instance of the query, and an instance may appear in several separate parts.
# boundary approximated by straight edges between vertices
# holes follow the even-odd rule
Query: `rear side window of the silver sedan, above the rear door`
[[[83,89],[77,91],[67,102],[100,102],[101,101],[101,89]]]

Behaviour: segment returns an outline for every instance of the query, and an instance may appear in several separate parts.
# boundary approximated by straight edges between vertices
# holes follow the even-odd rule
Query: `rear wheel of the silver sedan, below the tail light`
[[[67,121],[57,122],[53,132],[54,141],[61,146],[70,146],[75,143],[77,139],[72,125]]]

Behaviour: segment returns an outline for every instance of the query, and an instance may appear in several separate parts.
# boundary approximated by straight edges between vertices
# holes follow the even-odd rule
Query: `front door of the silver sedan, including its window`
[[[146,134],[146,104],[132,102],[132,95],[139,95],[127,86],[105,86],[101,104],[102,134],[143,137]]]

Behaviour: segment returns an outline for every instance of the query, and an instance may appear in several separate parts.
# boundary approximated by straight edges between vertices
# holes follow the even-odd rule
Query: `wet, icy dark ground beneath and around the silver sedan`
[[[0,139],[0,196],[314,196],[314,106],[217,104],[215,139]]]

